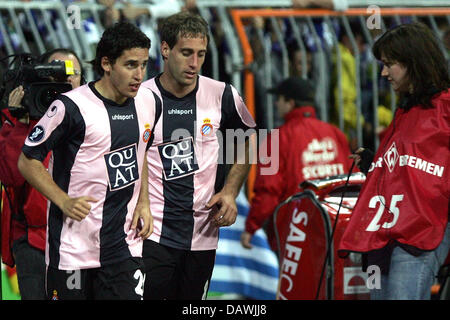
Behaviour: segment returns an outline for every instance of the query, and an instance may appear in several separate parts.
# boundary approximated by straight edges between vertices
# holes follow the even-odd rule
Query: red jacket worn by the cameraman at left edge
[[[17,168],[25,138],[36,121],[26,125],[5,113],[12,122],[4,121],[0,129],[0,181],[7,187],[9,195],[8,199],[3,192],[2,260],[14,266],[12,243],[26,233],[31,246],[45,251],[47,199],[25,181]],[[49,155],[43,162],[45,167],[48,167],[48,161]],[[11,205],[14,212],[11,212]]]

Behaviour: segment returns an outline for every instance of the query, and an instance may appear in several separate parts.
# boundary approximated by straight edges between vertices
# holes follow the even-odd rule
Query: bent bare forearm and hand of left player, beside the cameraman
[[[19,156],[17,166],[20,173],[33,188],[57,205],[66,216],[76,221],[83,220],[89,214],[91,210],[89,202],[97,201],[89,196],[70,198],[53,181],[41,161],[28,158],[23,152]]]

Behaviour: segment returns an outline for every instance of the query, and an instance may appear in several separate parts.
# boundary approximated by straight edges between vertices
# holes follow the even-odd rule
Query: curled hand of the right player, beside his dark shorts
[[[236,199],[233,195],[227,194],[223,191],[216,193],[207,203],[208,209],[217,205],[219,211],[213,216],[213,219],[218,227],[231,226],[236,222],[237,205]]]

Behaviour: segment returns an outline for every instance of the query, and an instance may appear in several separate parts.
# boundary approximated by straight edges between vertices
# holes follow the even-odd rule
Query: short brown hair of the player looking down
[[[161,42],[164,41],[173,48],[179,37],[206,37],[209,43],[208,23],[200,15],[182,11],[167,17],[160,31]]]

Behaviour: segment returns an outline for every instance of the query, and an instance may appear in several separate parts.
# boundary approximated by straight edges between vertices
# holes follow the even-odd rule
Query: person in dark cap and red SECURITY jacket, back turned
[[[276,106],[285,123],[260,146],[263,151],[257,165],[254,197],[241,234],[241,244],[247,249],[252,247],[253,234],[272,216],[276,206],[301,191],[301,182],[346,174],[352,163],[344,133],[316,118],[315,88],[310,81],[290,77],[269,93],[277,95]],[[266,156],[268,159],[263,159]],[[272,219],[266,232],[272,250],[277,251]]]

